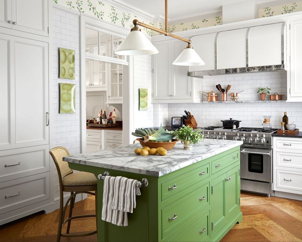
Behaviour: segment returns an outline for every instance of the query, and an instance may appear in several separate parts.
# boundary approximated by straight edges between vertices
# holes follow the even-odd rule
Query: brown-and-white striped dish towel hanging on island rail
[[[105,176],[102,220],[117,226],[128,225],[127,212],[133,212],[135,196],[141,195],[136,182],[126,177]]]

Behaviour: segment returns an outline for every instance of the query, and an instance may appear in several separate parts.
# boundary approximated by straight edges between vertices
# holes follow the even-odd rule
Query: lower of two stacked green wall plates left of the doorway
[[[60,113],[76,112],[76,84],[60,83]]]

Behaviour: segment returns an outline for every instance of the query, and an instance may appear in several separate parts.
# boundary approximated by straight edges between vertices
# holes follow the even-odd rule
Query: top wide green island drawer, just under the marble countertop
[[[210,164],[203,165],[192,171],[174,177],[161,184],[161,201],[183,191],[189,186],[210,176]]]

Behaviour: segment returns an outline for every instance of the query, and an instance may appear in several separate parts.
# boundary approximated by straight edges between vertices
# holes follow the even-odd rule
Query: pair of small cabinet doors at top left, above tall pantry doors
[[[48,36],[48,2],[0,0],[0,26]]]

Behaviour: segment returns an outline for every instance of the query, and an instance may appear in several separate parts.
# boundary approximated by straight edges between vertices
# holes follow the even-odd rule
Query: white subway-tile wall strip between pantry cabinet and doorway
[[[80,55],[79,17],[53,8],[53,144],[66,147],[71,154],[80,153]],[[76,50],[75,80],[59,79],[59,48]],[[76,113],[59,113],[59,83],[76,84]],[[52,148],[52,147],[51,147]],[[54,173],[55,199],[59,197],[57,171]]]

